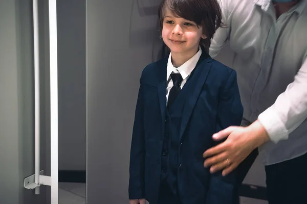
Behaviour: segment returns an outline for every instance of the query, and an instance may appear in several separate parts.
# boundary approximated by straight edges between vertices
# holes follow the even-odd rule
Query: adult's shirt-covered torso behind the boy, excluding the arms
[[[244,118],[253,122],[294,81],[305,60],[307,3],[300,1],[276,19],[270,1],[228,2],[228,39],[234,52],[232,68],[237,71]],[[269,142],[260,149],[268,165],[300,156],[306,152],[306,146],[305,120],[288,140]]]

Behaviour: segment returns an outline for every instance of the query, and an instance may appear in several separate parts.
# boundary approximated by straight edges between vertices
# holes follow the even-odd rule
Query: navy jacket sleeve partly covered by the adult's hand
[[[231,125],[240,125],[243,106],[236,81],[236,72],[231,71],[228,82],[220,94],[217,110],[216,132]],[[215,143],[215,142],[214,142]],[[216,145],[217,143],[215,143]],[[237,194],[237,170],[223,176],[222,171],[211,174],[206,204],[231,204]]]

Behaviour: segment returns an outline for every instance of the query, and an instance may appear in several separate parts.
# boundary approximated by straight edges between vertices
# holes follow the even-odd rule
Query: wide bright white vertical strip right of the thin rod
[[[51,204],[58,204],[58,75],[56,0],[49,0]]]

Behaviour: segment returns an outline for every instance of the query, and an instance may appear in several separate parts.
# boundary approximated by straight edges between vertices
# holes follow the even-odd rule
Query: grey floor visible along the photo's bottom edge
[[[59,204],[86,204],[85,184],[59,183]],[[242,197],[240,204],[268,204],[265,200]]]

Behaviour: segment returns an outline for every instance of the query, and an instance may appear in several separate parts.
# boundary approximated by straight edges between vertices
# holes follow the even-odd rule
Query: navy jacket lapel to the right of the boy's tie
[[[188,121],[190,119],[191,113],[193,111],[194,106],[196,105],[196,101],[202,91],[203,85],[207,79],[208,73],[211,68],[212,58],[205,52],[203,52],[199,62],[197,63],[193,73],[190,76],[191,81],[190,87],[193,89],[189,95],[187,95],[182,120],[181,120],[181,128],[180,128],[180,140],[184,134]]]

